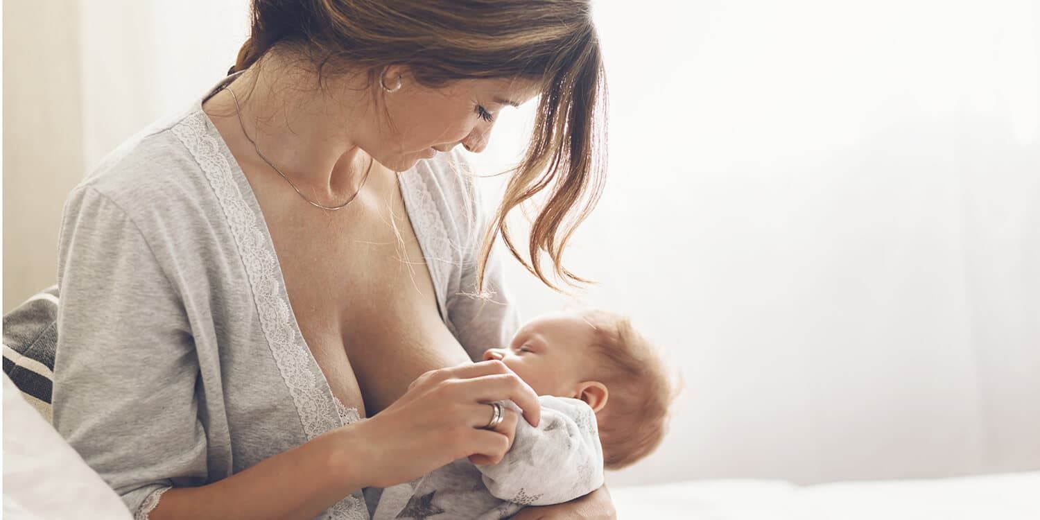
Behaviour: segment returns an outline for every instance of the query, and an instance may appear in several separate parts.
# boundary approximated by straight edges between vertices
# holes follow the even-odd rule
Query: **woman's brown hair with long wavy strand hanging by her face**
[[[604,180],[606,89],[589,0],[253,0],[252,33],[230,72],[276,46],[311,59],[319,78],[327,67],[355,68],[374,84],[385,67],[404,64],[430,87],[467,78],[539,81],[534,132],[486,230],[477,289],[499,234],[546,285],[558,289],[546,277],[542,254],[555,278],[588,283],[561,258]],[[546,189],[525,260],[506,216]]]

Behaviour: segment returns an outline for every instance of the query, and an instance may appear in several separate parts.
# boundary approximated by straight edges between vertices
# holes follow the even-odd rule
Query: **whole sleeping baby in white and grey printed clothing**
[[[566,502],[602,486],[604,467],[649,454],[665,435],[672,385],[626,318],[603,311],[540,317],[484,359],[505,363],[539,394],[539,425],[521,418],[496,465],[462,459],[367,495],[379,502],[373,520],[499,520],[524,505]]]

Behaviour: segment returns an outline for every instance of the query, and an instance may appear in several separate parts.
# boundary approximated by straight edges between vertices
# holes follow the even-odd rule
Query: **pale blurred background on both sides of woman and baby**
[[[1040,469],[1040,1],[594,5],[609,180],[566,261],[598,285],[508,267],[525,316],[625,312],[681,372],[608,483]],[[5,312],[55,283],[68,191],[226,73],[246,10],[3,2]]]

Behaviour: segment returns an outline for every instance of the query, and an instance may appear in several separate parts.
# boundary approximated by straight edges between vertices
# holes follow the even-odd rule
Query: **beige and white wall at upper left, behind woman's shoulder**
[[[115,146],[235,60],[246,0],[9,0],[4,9],[4,312],[57,277],[66,194]]]

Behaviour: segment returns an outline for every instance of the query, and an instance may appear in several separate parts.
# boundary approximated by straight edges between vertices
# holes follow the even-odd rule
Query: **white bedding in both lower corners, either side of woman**
[[[3,516],[129,520],[115,493],[3,380]],[[1040,520],[1040,472],[805,488],[704,480],[610,494],[622,520]]]

